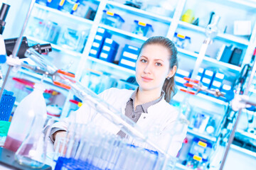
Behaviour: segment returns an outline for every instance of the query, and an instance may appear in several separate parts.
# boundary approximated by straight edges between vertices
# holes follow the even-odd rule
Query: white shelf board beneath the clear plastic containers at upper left
[[[33,37],[31,37],[31,36],[26,36],[26,38],[28,38],[28,40],[31,40],[32,42],[37,42],[37,43],[40,43],[40,44],[48,44],[48,43],[50,43],[50,42],[47,42],[47,41],[45,41],[45,40],[40,40],[40,39],[38,39],[38,38],[33,38]],[[61,52],[65,52],[65,53],[67,53],[67,54],[69,54],[69,55],[72,55],[73,57],[81,57],[81,56],[82,56],[82,53],[80,53],[80,52],[75,52],[75,51],[73,51],[73,50],[68,50],[68,49],[65,49],[65,48],[63,48],[63,47],[60,47],[60,46],[58,46],[58,45],[55,45],[55,44],[53,44],[53,43],[50,43],[50,45],[51,45],[51,47],[52,47],[53,49],[58,50],[58,51],[61,51]]]

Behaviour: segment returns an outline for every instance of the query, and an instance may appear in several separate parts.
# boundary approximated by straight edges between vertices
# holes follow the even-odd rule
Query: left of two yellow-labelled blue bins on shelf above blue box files
[[[124,19],[117,13],[112,13],[110,11],[103,10],[101,23],[104,23],[107,26],[112,26],[114,28],[121,28],[122,23],[124,23]]]

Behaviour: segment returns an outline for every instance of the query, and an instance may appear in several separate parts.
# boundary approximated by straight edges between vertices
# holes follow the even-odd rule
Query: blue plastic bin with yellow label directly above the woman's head
[[[134,28],[132,33],[142,35],[144,37],[151,37],[153,32],[154,29],[150,24],[134,20]]]

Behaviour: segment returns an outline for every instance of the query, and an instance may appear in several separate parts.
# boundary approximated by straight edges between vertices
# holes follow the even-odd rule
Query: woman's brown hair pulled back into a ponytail
[[[170,57],[169,57],[169,62],[170,62],[170,69],[173,69],[174,66],[176,66],[178,68],[178,60],[177,60],[177,48],[174,45],[174,42],[171,42],[171,40],[169,40],[169,38],[165,38],[162,36],[156,36],[156,37],[151,37],[149,39],[147,39],[141,49],[139,50],[139,54],[142,52],[142,49],[146,46],[146,45],[162,45],[163,47],[166,47],[166,49],[169,50],[170,52]],[[171,97],[174,96],[175,94],[175,81],[174,81],[174,77],[171,77],[171,79],[166,79],[164,81],[164,86],[163,86],[163,90],[165,92],[165,96],[164,99],[170,103],[171,101]]]

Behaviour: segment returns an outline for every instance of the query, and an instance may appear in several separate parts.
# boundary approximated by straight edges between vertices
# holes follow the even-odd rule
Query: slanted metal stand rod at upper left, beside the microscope
[[[32,11],[33,5],[35,4],[35,1],[36,1],[36,0],[31,0],[31,4],[29,5],[29,8],[28,8],[28,13],[26,14],[26,18],[25,18],[25,21],[24,21],[24,23],[23,23],[23,27],[22,27],[22,30],[21,30],[21,34],[20,34],[20,36],[18,37],[18,40],[17,40],[17,42],[16,42],[16,44],[15,44],[15,46],[14,46],[14,50],[13,50],[13,52],[12,52],[11,57],[16,57],[16,55],[17,55],[17,53],[18,53],[19,47],[20,47],[20,45],[21,45],[22,36],[23,36],[24,31],[25,31],[26,25],[27,25],[27,23],[28,23],[28,18],[29,18],[30,14],[31,14],[31,11]],[[9,65],[9,68],[8,68],[8,70],[7,70],[7,72],[6,72],[6,76],[4,77],[3,85],[1,86],[0,98],[2,97],[2,95],[3,95],[3,93],[4,93],[4,87],[6,86],[6,82],[7,82],[7,80],[8,80],[9,74],[10,74],[10,72],[11,72],[11,68],[12,68],[12,66]],[[0,99],[0,101],[1,101],[1,99]]]

